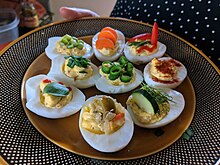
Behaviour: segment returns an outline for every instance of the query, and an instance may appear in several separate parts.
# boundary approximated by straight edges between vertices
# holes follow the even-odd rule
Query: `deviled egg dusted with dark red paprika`
[[[157,88],[176,88],[187,76],[185,66],[170,57],[154,58],[144,68],[144,80]]]

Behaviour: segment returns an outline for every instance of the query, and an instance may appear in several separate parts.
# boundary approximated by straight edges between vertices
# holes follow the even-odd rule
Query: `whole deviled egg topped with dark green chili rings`
[[[101,77],[95,85],[98,90],[105,93],[125,93],[135,89],[143,81],[142,72],[124,56],[121,56],[117,62],[102,62],[99,73]]]

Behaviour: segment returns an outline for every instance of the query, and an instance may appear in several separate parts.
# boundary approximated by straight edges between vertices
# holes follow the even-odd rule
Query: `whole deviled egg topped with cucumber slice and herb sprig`
[[[158,128],[174,121],[183,111],[185,100],[181,93],[156,89],[148,85],[134,91],[127,100],[127,110],[134,123],[144,128]]]

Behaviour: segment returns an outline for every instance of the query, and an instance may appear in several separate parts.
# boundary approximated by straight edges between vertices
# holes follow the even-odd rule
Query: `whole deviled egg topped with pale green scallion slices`
[[[63,37],[49,38],[45,53],[50,59],[60,55],[91,58],[93,50],[92,47],[83,40],[66,34]]]

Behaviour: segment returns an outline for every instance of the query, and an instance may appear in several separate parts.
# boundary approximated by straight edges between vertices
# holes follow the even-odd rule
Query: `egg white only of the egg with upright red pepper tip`
[[[131,61],[134,64],[145,64],[149,61],[151,61],[153,58],[159,58],[162,57],[164,55],[164,53],[166,52],[166,45],[162,44],[161,42],[158,42],[158,51],[149,55],[149,56],[137,56],[135,54],[133,54],[130,51],[130,46],[128,46],[128,42],[125,44],[125,48],[124,48],[124,54],[127,57],[127,59],[129,61]]]

